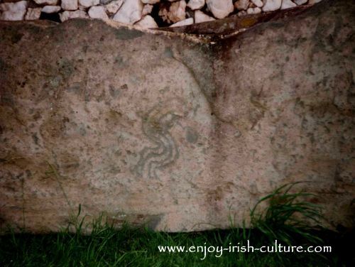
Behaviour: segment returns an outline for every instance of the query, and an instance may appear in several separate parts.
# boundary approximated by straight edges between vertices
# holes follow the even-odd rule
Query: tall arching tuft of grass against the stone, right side
[[[322,239],[314,234],[316,229],[322,229],[322,209],[307,201],[315,194],[290,192],[299,183],[278,187],[251,209],[251,226],[269,241],[283,241],[288,245],[295,242],[322,243]],[[268,202],[268,207],[259,212],[259,207],[265,202]]]

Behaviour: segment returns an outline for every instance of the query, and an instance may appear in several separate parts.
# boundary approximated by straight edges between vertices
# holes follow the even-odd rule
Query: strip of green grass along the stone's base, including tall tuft
[[[114,229],[99,219],[92,232],[84,235],[82,221],[77,231],[56,234],[6,234],[0,236],[0,266],[355,266],[351,265],[349,234],[309,227],[321,219],[319,207],[307,202],[305,193],[291,194],[293,185],[278,188],[251,210],[254,229],[229,229],[195,233],[168,234],[125,225]],[[258,212],[262,202],[269,207]],[[297,219],[296,219],[297,218]],[[251,246],[273,244],[330,245],[332,253],[228,253],[216,257],[202,253],[160,253],[158,246]],[[346,241],[349,239],[349,241]],[[349,242],[349,244],[348,244]],[[346,251],[349,250],[349,251]],[[354,259],[353,259],[354,260]]]

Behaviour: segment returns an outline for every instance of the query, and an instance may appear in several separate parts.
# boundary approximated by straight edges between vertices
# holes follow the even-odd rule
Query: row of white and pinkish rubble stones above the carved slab
[[[231,14],[244,16],[312,5],[321,0],[2,0],[0,20],[47,18],[111,19],[143,28],[184,26],[214,21]]]

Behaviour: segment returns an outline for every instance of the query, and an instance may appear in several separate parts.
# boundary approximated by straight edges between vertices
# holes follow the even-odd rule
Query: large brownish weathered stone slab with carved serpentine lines
[[[80,204],[118,226],[223,228],[296,181],[330,226],[354,224],[354,10],[324,1],[214,45],[0,22],[2,229],[56,231]]]

